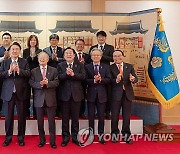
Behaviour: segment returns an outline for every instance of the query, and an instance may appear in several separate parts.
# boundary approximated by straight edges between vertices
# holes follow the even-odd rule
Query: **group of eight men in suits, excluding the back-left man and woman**
[[[132,65],[123,62],[124,54],[106,44],[106,33],[97,33],[98,44],[90,49],[89,54],[83,53],[85,42],[78,39],[75,49],[58,47],[59,36],[52,34],[49,38],[50,47],[38,53],[39,66],[30,72],[28,62],[20,58],[21,46],[14,42],[10,46],[10,58],[4,60],[0,68],[0,78],[3,79],[1,98],[5,104],[6,138],[3,146],[12,142],[14,106],[18,115],[18,141],[24,146],[25,135],[25,105],[28,78],[33,88],[34,106],[37,112],[40,142],[38,147],[46,143],[44,132],[44,111],[47,113],[50,132],[50,145],[56,148],[55,115],[61,108],[62,136],[61,146],[66,146],[72,135],[72,142],[81,145],[78,140],[79,115],[83,116],[85,98],[88,106],[89,127],[94,133],[94,118],[97,109],[98,134],[104,134],[104,113],[106,118],[112,114],[111,130],[112,142],[117,142],[119,112],[122,108],[123,126],[121,133],[128,144],[130,140],[131,102],[134,98],[131,83],[137,82]],[[110,65],[110,62],[114,64]],[[87,90],[86,90],[87,89]],[[58,106],[59,102],[61,105]],[[109,103],[107,103],[109,102]],[[110,102],[112,104],[110,104]],[[81,112],[80,112],[81,111]],[[69,119],[72,119],[71,133]],[[99,138],[105,144],[103,137]]]

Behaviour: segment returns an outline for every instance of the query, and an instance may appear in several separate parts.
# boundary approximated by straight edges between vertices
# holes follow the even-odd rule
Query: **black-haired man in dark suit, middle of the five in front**
[[[59,99],[62,101],[62,136],[61,146],[66,146],[70,140],[69,118],[71,116],[72,142],[80,145],[77,134],[79,131],[79,111],[84,99],[82,80],[85,79],[85,70],[82,63],[74,60],[75,50],[68,47],[64,50],[66,61],[58,64],[60,80]]]

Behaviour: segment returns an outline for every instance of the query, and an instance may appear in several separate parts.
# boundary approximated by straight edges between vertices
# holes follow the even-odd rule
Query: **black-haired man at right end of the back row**
[[[112,45],[109,45],[106,43],[106,37],[107,34],[105,31],[99,31],[96,34],[98,44],[92,46],[89,50],[93,48],[98,48],[103,51],[103,56],[101,58],[101,63],[105,63],[107,65],[110,65],[110,62],[113,62],[113,52],[114,52],[114,47]],[[106,119],[110,119],[110,111],[111,111],[111,86],[108,86],[108,101],[106,102]]]

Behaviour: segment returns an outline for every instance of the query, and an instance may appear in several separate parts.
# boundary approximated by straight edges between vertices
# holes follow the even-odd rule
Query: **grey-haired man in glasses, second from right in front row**
[[[107,85],[110,84],[111,75],[109,65],[101,63],[103,53],[98,48],[91,51],[92,63],[85,66],[87,88],[87,104],[89,127],[94,130],[95,106],[98,114],[99,141],[105,144],[102,137],[104,134],[104,112],[107,102]]]

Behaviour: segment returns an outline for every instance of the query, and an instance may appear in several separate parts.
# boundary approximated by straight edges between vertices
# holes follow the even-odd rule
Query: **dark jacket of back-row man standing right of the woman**
[[[57,47],[57,58],[58,60],[52,60],[52,48],[51,47],[47,47],[45,49],[43,49],[44,52],[46,52],[49,55],[49,62],[48,65],[57,68],[58,63],[63,62],[64,58],[63,58],[63,49],[61,47]]]

